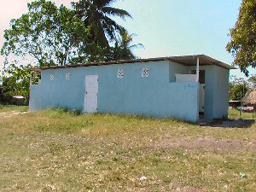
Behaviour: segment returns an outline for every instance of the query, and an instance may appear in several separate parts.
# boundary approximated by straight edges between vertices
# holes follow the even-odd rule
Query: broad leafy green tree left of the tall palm
[[[38,66],[65,65],[82,50],[90,30],[75,16],[75,11],[55,3],[38,0],[28,3],[28,13],[11,20],[4,31],[2,55],[31,56]]]

